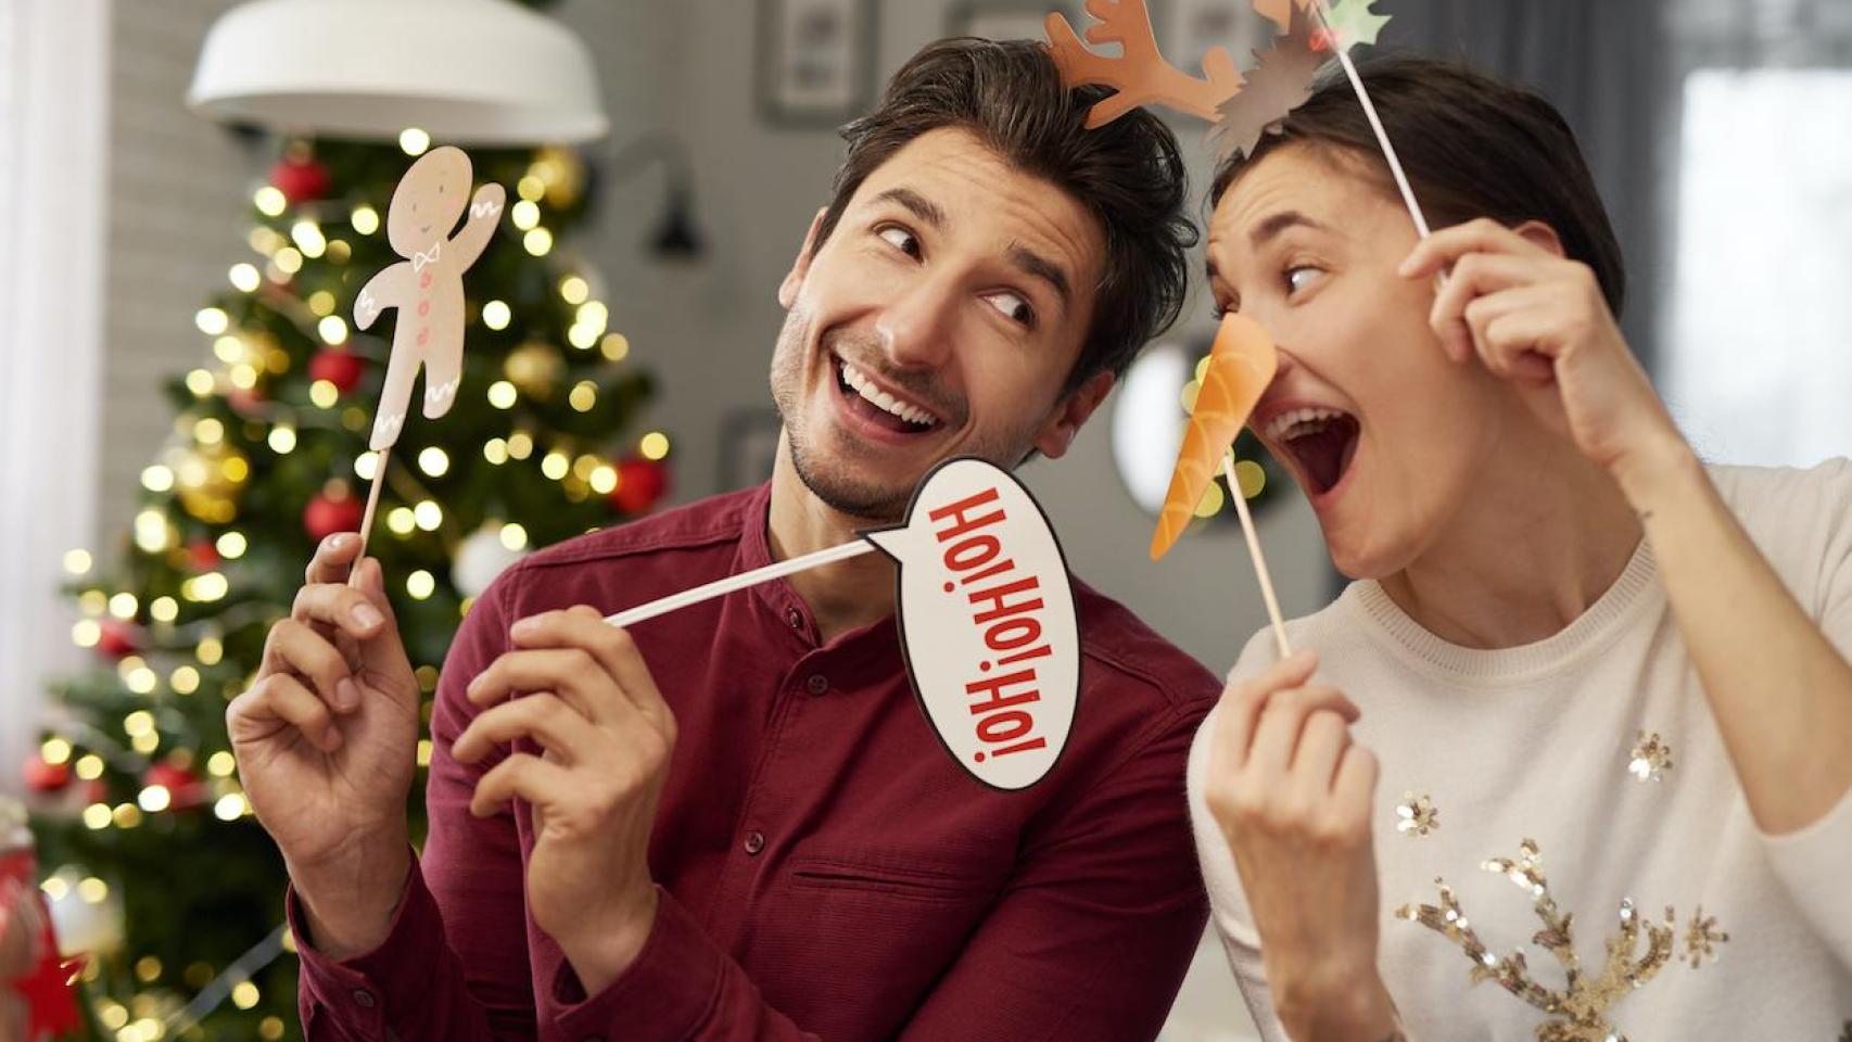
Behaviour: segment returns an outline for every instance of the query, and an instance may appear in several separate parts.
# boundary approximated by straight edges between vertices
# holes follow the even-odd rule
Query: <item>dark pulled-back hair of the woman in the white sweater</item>
[[[1570,259],[1595,270],[1608,309],[1620,315],[1620,242],[1556,105],[1452,61],[1387,57],[1367,63],[1361,74],[1430,224],[1489,217],[1515,228],[1541,220]],[[1311,100],[1274,126],[1248,155],[1222,163],[1209,189],[1211,207],[1241,174],[1289,144],[1361,161],[1400,202],[1369,117],[1343,76],[1322,80]]]

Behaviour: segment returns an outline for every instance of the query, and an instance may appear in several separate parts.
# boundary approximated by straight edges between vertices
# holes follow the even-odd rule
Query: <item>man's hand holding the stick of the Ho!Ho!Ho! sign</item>
[[[469,685],[469,700],[489,709],[450,755],[478,763],[515,738],[541,748],[489,768],[470,811],[494,814],[515,798],[533,809],[528,907],[598,994],[637,961],[656,922],[650,825],[676,722],[630,635],[594,609],[548,611],[509,633],[517,650]]]

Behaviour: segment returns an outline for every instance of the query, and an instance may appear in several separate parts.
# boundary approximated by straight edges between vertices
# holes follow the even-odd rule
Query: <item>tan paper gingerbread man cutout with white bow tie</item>
[[[372,276],[354,302],[354,326],[398,309],[393,354],[380,389],[369,448],[391,448],[411,411],[411,381],[424,366],[424,416],[450,411],[463,379],[463,272],[494,235],[507,192],[483,185],[469,198],[470,165],[461,148],[433,148],[406,170],[385,215],[385,237],[404,261]],[[469,222],[450,237],[463,211]]]

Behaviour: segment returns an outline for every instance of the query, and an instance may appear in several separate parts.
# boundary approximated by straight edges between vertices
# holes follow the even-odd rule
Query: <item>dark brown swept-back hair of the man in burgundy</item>
[[[1087,109],[1107,94],[1106,87],[1063,87],[1039,43],[967,37],[926,46],[895,72],[872,113],[843,128],[848,157],[835,174],[817,246],[856,189],[895,152],[932,130],[967,130],[1013,168],[1074,196],[1104,231],[1093,322],[1061,394],[1096,372],[1124,374],[1182,311],[1185,254],[1196,229],[1185,213],[1176,137],[1158,117],[1133,109],[1087,130]]]

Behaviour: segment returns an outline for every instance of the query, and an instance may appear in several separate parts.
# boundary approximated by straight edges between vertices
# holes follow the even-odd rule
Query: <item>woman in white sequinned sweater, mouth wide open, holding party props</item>
[[[1246,646],[1191,757],[1261,1029],[1852,1038],[1852,466],[1696,461],[1546,102],[1367,83],[1432,239],[1343,81],[1209,226],[1280,342],[1252,426],[1356,579]]]

